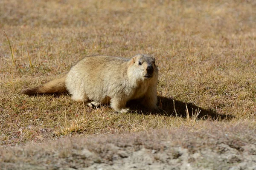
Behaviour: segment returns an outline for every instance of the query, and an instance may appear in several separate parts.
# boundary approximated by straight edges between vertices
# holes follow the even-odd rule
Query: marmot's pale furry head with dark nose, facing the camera
[[[128,72],[137,79],[158,78],[158,68],[155,65],[155,59],[145,54],[138,54],[131,59]]]

